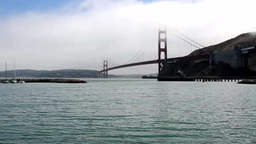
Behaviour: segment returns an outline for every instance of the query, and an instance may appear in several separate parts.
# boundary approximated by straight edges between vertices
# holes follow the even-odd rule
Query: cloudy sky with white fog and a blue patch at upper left
[[[255,0],[2,0],[0,70],[96,69],[103,59],[125,63],[158,27],[177,29],[209,46],[256,31]],[[156,47],[156,52],[157,52]],[[109,74],[157,73],[146,65]]]

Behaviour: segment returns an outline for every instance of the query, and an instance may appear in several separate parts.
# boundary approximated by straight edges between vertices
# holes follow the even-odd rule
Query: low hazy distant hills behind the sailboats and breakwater
[[[61,70],[15,70],[16,77],[54,77],[54,78],[94,78],[97,70],[87,69],[61,69]],[[8,77],[13,77],[13,70],[7,71]],[[5,71],[0,71],[0,77],[5,77]]]

